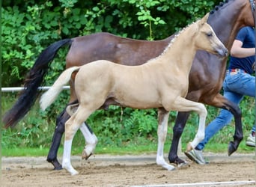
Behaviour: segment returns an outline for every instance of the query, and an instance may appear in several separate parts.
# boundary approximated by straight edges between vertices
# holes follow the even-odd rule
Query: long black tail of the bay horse
[[[3,122],[5,128],[9,126],[14,127],[16,123],[28,113],[40,93],[37,89],[43,82],[43,78],[49,69],[50,62],[55,58],[55,55],[61,46],[64,46],[65,44],[70,45],[71,43],[71,39],[60,40],[52,43],[52,45],[41,52],[37,61],[35,61],[34,66],[29,71],[28,76],[26,76],[24,90],[20,93],[19,99],[13,107],[4,114]]]

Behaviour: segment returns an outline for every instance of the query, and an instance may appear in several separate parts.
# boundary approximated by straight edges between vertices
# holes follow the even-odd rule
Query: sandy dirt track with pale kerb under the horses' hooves
[[[165,171],[157,166],[155,155],[96,155],[88,161],[72,156],[73,167],[79,171],[76,176],[70,176],[64,170],[53,171],[45,157],[2,158],[1,186],[186,186],[184,183],[255,186],[255,154],[234,153],[228,157],[207,153],[205,156],[210,160],[209,165],[197,165],[187,160],[189,166],[175,171]]]

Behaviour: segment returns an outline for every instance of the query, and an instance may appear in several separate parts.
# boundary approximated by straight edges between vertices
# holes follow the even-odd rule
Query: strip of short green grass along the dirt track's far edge
[[[73,155],[81,155],[83,147],[73,147],[72,154]],[[183,144],[182,152],[186,149],[186,144]],[[220,144],[220,143],[211,143],[207,144],[205,147],[204,152],[211,152],[211,153],[227,153],[228,144]],[[165,145],[165,153],[168,154],[169,151],[169,144]],[[48,147],[23,147],[23,148],[2,148],[1,156],[47,156],[49,152]],[[240,147],[236,151],[236,153],[254,153],[254,147],[247,147],[245,141],[242,141]],[[100,147],[97,145],[95,150],[95,154],[110,154],[110,155],[125,155],[125,154],[132,154],[132,155],[139,155],[139,154],[150,154],[156,153],[156,144],[150,145],[134,145],[130,144],[125,147]],[[61,146],[58,150],[58,156],[62,156],[63,154],[63,147]]]

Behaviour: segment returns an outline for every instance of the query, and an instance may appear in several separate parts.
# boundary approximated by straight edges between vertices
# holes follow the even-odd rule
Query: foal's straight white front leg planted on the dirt
[[[167,162],[165,162],[164,159],[164,145],[165,145],[165,138],[167,134],[167,128],[168,128],[168,117],[169,112],[168,111],[162,111],[159,109],[158,111],[158,129],[157,129],[157,135],[158,135],[158,145],[157,145],[157,154],[156,154],[156,164],[161,165],[163,168],[167,169],[168,171],[174,170],[175,167],[173,165],[168,165]]]

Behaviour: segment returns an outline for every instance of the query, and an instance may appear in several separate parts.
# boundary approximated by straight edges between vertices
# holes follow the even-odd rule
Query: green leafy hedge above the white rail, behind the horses
[[[101,31],[159,40],[203,16],[214,2],[218,1],[4,1],[2,85],[22,85],[40,52],[56,40]],[[51,67],[48,80],[64,69],[66,54],[60,52],[55,59],[58,65]]]

